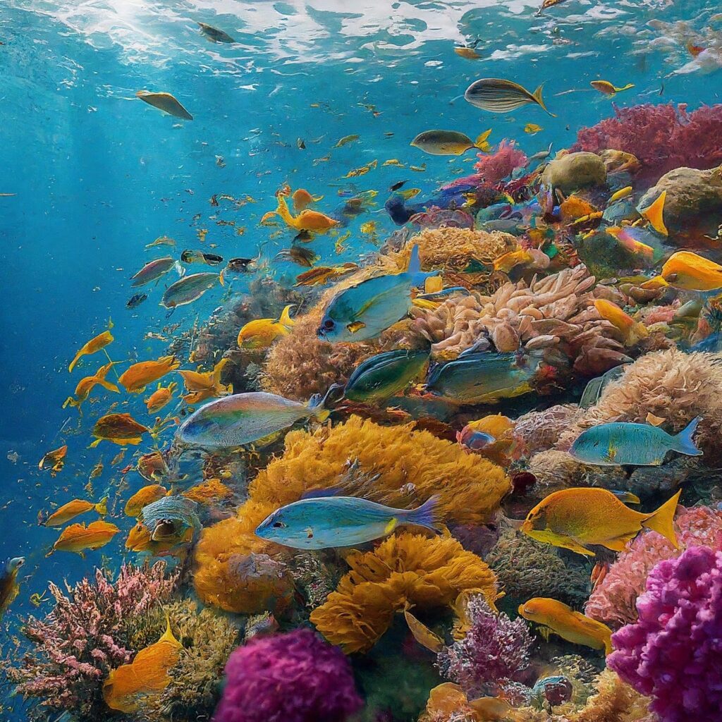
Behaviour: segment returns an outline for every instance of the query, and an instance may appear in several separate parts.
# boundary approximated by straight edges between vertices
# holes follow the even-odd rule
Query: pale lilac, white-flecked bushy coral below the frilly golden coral
[[[466,612],[469,631],[440,651],[436,664],[441,673],[470,699],[495,696],[505,682],[523,682],[532,643],[524,620],[495,614],[481,595],[469,599]]]

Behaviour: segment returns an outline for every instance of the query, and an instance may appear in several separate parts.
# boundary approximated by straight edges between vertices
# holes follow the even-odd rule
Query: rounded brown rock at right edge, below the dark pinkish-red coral
[[[717,235],[722,224],[722,167],[670,170],[642,196],[638,208],[651,206],[662,191],[667,191],[664,225],[669,235]]]

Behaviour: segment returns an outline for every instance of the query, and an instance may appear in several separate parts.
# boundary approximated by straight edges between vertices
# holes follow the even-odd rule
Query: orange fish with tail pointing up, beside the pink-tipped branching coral
[[[166,622],[165,632],[155,644],[139,651],[131,664],[110,670],[103,682],[103,699],[110,709],[135,713],[170,684],[168,670],[181,658],[183,645],[173,636],[168,617]]]

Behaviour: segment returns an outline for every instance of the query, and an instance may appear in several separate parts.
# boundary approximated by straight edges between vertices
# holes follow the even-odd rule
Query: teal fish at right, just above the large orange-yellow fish
[[[702,456],[692,440],[699,422],[700,417],[692,419],[676,436],[649,424],[600,424],[582,432],[569,453],[577,461],[595,466],[659,466],[668,451]]]

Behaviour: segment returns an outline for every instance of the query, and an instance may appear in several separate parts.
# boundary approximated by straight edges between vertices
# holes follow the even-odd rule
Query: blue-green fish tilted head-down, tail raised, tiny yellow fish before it
[[[339,291],[326,307],[318,338],[331,343],[375,339],[409,313],[412,289],[438,273],[422,272],[419,247],[414,245],[403,273],[377,276]]]

